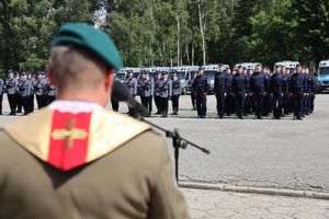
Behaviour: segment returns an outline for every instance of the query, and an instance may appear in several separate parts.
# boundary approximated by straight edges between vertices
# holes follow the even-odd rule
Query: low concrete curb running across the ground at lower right
[[[194,182],[179,182],[180,187],[183,188],[196,188],[208,191],[222,191],[222,192],[235,192],[235,193],[253,193],[262,195],[276,195],[276,196],[290,196],[290,197],[306,197],[329,200],[329,193],[320,193],[313,191],[294,191],[294,189],[277,189],[265,187],[252,187],[252,186],[237,186],[227,184],[212,184],[212,183],[194,183]]]

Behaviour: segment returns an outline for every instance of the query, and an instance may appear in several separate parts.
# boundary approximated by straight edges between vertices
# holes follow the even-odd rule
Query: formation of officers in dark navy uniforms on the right
[[[192,96],[196,99],[197,115],[206,116],[206,94],[209,82],[200,69],[192,83]],[[277,66],[274,72],[258,65],[256,70],[239,66],[231,71],[218,65],[215,73],[214,93],[217,100],[218,118],[236,115],[243,119],[254,115],[262,119],[273,113],[273,119],[290,114],[302,120],[314,112],[316,81],[307,67],[297,66],[294,72]]]

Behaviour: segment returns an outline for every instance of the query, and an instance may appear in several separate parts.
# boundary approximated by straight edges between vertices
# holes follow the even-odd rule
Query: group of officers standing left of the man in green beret
[[[52,103],[57,95],[56,88],[50,84],[43,71],[13,72],[9,71],[5,80],[0,79],[0,115],[2,115],[2,99],[7,93],[10,114],[23,113],[26,115],[34,111],[34,97],[37,107],[42,108]]]

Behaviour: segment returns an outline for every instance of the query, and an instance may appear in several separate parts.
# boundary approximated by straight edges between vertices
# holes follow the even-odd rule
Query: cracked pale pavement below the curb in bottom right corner
[[[182,188],[193,219],[328,219],[329,201]]]

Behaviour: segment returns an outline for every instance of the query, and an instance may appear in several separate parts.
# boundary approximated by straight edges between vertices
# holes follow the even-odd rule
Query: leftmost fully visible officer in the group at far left
[[[10,106],[10,114],[11,116],[16,115],[16,105],[18,105],[18,80],[14,78],[14,73],[10,71],[8,73],[8,78],[5,79],[5,91],[8,96],[8,102]]]

